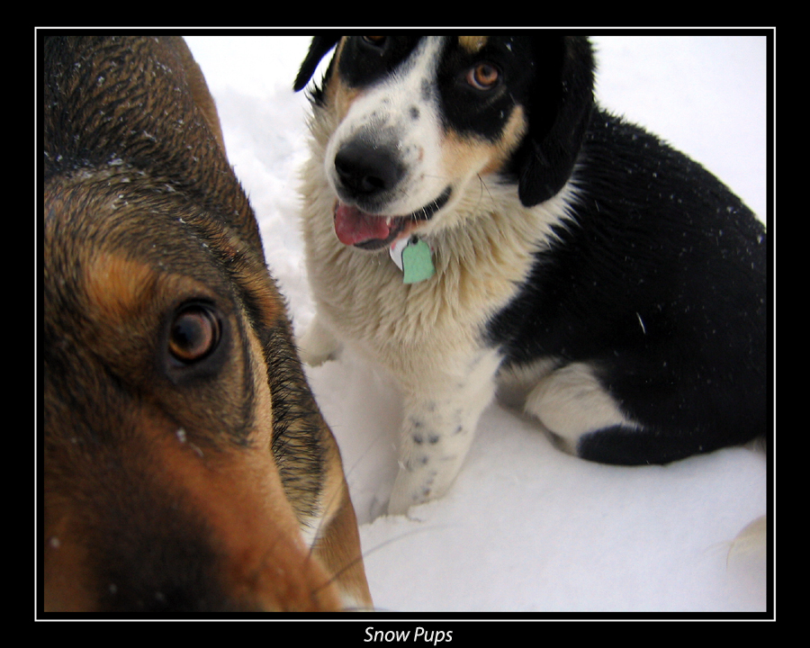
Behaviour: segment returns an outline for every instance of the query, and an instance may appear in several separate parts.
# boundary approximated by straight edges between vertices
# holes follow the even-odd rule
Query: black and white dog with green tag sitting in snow
[[[662,464],[769,434],[765,228],[593,101],[586,38],[316,37],[303,229],[318,364],[404,393],[389,511],[441,496],[496,390],[568,452]]]

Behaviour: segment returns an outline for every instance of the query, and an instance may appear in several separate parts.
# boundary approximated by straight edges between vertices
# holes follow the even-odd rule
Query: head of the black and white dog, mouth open
[[[480,175],[518,180],[520,202],[558,193],[593,103],[580,37],[316,37],[295,88],[332,47],[316,112],[329,116],[325,173],[346,245],[383,249],[458,226]]]

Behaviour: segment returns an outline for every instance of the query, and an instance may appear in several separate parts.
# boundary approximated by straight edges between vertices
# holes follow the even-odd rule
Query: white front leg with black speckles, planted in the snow
[[[494,352],[482,352],[464,363],[466,371],[434,376],[406,392],[390,514],[440,498],[453,484],[478,419],[492,401],[499,360]]]

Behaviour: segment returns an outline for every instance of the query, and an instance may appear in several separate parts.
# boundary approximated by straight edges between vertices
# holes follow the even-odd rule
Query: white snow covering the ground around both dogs
[[[312,317],[297,220],[305,156],[293,78],[309,40],[187,39],[223,125],[296,330]],[[599,37],[599,101],[642,123],[766,213],[764,37]],[[399,400],[359,358],[309,371],[344,457],[382,611],[725,613],[766,608],[764,554],[731,540],[768,508],[763,455],[727,449],[668,466],[590,464],[493,404],[443,500],[381,516]]]

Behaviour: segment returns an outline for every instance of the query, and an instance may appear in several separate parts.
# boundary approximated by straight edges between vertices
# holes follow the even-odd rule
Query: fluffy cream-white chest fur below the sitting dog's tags
[[[492,176],[476,177],[454,207],[453,224],[426,228],[436,275],[403,284],[387,253],[338,241],[332,216],[336,197],[323,166],[313,161],[323,150],[318,142],[323,138],[317,130],[315,135],[314,155],[304,169],[302,227],[322,324],[405,383],[425,374],[469,371],[471,357],[484,347],[485,323],[525,282],[533,253],[545,245],[550,225],[564,217],[570,190],[527,209],[513,186]]]

